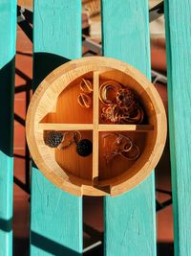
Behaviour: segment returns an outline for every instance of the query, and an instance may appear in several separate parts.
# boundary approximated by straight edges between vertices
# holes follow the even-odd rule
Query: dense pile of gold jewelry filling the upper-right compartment
[[[101,118],[115,124],[140,124],[144,118],[142,107],[133,91],[117,81],[105,81],[99,88],[99,99],[104,107]]]

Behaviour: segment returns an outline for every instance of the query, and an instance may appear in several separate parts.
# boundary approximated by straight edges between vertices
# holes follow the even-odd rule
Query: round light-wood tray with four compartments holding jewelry
[[[82,79],[93,83],[93,105],[88,108],[77,102]],[[108,80],[134,91],[145,113],[141,124],[103,122],[99,86]],[[33,94],[26,126],[28,145],[39,170],[54,185],[78,196],[117,196],[137,186],[159,162],[167,127],[153,84],[132,66],[103,57],[80,58],[55,69]],[[75,144],[65,150],[50,148],[44,138],[51,130],[79,131],[82,138],[93,142],[93,153],[82,157]],[[131,137],[140,152],[138,159],[117,155],[106,161],[105,138],[114,133]]]

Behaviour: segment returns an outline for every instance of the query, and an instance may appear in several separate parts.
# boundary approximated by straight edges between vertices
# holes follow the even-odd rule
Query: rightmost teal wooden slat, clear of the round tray
[[[191,2],[165,1],[175,255],[191,255]]]

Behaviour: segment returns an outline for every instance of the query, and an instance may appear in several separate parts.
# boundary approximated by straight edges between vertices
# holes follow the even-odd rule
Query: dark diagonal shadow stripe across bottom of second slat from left
[[[55,256],[80,256],[82,253],[76,252],[73,249],[58,244],[53,240],[41,236],[34,231],[31,231],[31,244]]]

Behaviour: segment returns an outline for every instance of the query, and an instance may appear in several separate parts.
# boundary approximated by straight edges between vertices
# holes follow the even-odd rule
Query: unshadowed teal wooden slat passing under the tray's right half
[[[148,3],[102,0],[103,54],[126,61],[150,78]],[[134,190],[104,199],[106,256],[155,256],[154,174]]]

